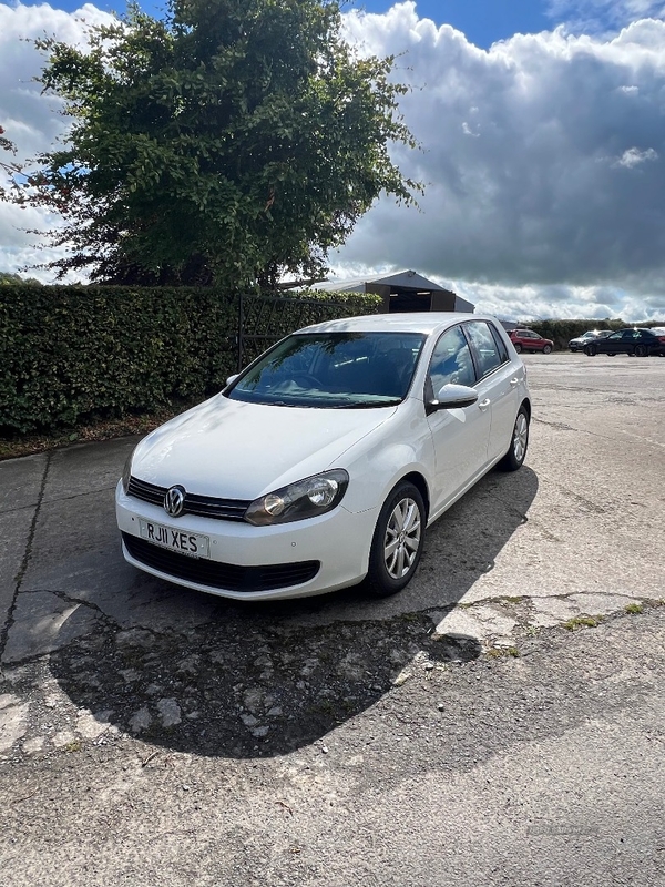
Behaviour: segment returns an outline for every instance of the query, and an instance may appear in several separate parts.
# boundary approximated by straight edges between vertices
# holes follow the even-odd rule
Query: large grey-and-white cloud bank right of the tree
[[[633,293],[640,317],[646,297],[665,316],[664,22],[489,51],[419,21],[411,2],[347,27],[365,51],[406,52],[401,108],[422,152],[396,159],[428,186],[420,213],[379,202],[337,266],[416,268],[464,297],[480,287],[480,302],[493,286],[513,315],[620,313]]]

